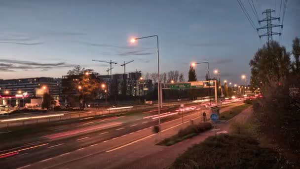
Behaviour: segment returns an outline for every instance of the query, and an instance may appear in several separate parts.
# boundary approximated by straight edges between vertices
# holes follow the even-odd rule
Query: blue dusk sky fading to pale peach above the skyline
[[[264,26],[252,0],[241,1],[255,27]],[[282,18],[281,1],[253,0],[259,19],[267,8]],[[300,1],[288,0],[282,36],[273,37],[288,51],[300,37],[299,16]],[[190,63],[209,62],[211,77],[218,69],[221,79],[243,84],[241,75],[250,79],[249,61],[266,42],[237,0],[0,0],[0,21],[0,79],[60,78],[75,65],[107,75],[109,64],[92,59],[117,62],[113,74],[130,60],[126,72],[157,72],[156,39],[130,39],[158,35],[161,73],[178,70],[188,80]],[[206,65],[195,69],[204,80]]]

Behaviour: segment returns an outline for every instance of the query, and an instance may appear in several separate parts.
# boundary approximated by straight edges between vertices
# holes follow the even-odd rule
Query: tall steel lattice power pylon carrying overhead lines
[[[262,14],[266,14],[266,17],[263,20],[259,20],[259,24],[261,24],[261,22],[266,22],[266,25],[263,26],[263,27],[257,28],[258,32],[261,29],[267,29],[267,32],[262,34],[262,35],[259,35],[259,37],[260,38],[262,38],[262,37],[267,37],[268,38],[268,47],[269,47],[269,43],[273,41],[273,38],[272,38],[273,35],[279,35],[279,36],[281,35],[281,33],[273,32],[272,28],[275,28],[275,27],[281,27],[282,28],[283,27],[283,25],[272,24],[272,20],[280,21],[280,17],[273,17],[272,12],[275,12],[275,10],[266,9],[265,11],[263,11]]]

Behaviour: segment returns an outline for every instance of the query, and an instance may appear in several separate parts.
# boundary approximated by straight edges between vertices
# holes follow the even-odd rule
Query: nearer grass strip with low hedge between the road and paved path
[[[199,133],[209,130],[211,128],[211,123],[199,123],[198,125],[191,125],[179,130],[176,135],[165,138],[156,145],[171,146],[185,139],[192,138],[193,136],[198,135]]]

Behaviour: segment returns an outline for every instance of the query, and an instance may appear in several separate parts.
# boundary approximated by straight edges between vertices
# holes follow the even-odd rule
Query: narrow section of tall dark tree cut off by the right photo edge
[[[292,50],[294,61],[292,63],[292,70],[295,74],[300,73],[300,42],[299,38],[296,37],[295,40],[293,40],[293,50]]]

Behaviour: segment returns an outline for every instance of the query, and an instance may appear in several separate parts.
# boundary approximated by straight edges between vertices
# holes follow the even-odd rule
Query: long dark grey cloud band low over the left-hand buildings
[[[69,68],[74,67],[75,65],[66,64],[64,62],[59,63],[39,63],[31,61],[22,61],[22,60],[10,60],[10,59],[0,59],[0,70],[1,71],[13,71],[13,70],[29,70],[29,69],[41,69],[41,71],[48,71],[50,69],[58,68]],[[7,64],[8,63],[8,64]]]

